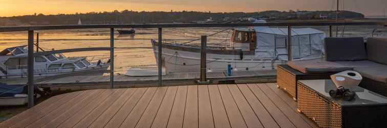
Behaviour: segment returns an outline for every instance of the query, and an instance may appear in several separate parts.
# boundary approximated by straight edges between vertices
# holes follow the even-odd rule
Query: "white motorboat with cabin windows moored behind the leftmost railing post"
[[[106,58],[102,58],[106,59]],[[27,76],[27,46],[7,48],[0,52],[0,78]],[[103,71],[110,66],[110,59],[103,62],[88,60],[87,57],[66,57],[61,53],[34,57],[34,76],[53,76],[85,71]],[[93,74],[93,75],[102,75]]]

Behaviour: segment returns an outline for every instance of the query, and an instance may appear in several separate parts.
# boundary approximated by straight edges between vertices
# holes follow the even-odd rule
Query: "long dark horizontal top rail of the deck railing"
[[[127,25],[53,25],[0,27],[0,32],[55,30],[55,29],[101,29],[101,28],[197,28],[197,27],[247,27],[247,26],[360,26],[382,25],[387,22],[294,22],[294,23],[235,23],[235,24],[127,24]]]

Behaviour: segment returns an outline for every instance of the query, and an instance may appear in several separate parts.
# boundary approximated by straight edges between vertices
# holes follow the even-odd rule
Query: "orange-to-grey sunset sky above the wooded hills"
[[[386,0],[342,0],[341,9],[384,15]],[[256,12],[265,10],[332,10],[336,0],[0,0],[0,16],[134,11]]]

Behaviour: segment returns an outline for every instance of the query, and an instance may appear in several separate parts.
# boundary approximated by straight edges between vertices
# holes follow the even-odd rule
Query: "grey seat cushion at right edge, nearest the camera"
[[[375,81],[387,83],[387,66],[355,68],[354,70],[356,72],[359,72],[360,75],[363,77],[367,77]]]

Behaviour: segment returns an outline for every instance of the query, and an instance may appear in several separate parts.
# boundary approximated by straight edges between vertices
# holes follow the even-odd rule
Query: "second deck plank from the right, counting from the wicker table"
[[[296,127],[311,127],[297,112],[295,112],[288,104],[286,104],[281,98],[279,98],[266,84],[256,84],[269,98],[278,106],[279,110],[281,110],[290,121]]]

